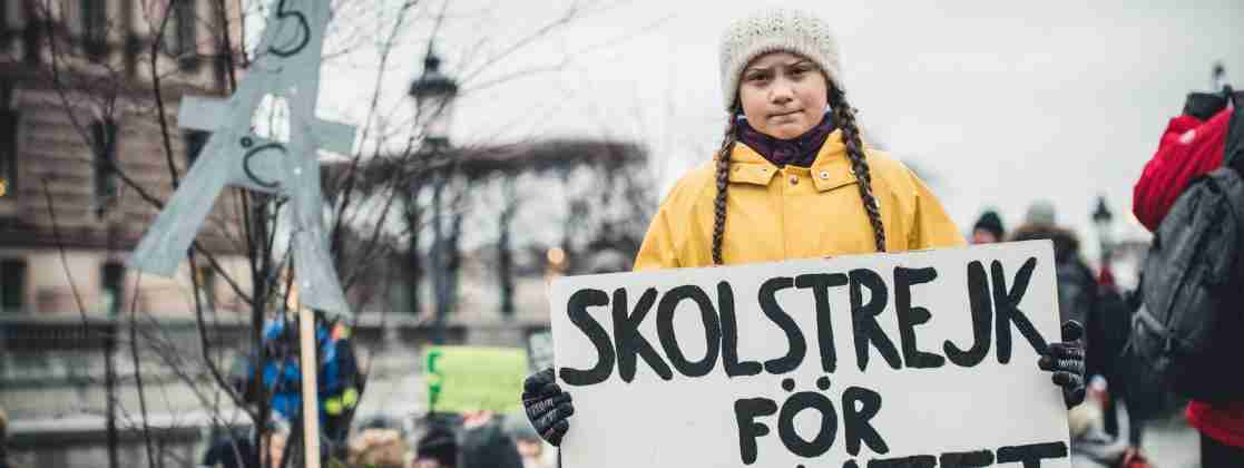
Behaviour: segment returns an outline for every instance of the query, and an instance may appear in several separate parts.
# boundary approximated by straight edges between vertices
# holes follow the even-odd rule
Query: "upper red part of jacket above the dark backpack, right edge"
[[[1192,116],[1171,119],[1158,151],[1144,164],[1144,172],[1132,189],[1132,212],[1141,224],[1157,230],[1188,183],[1223,164],[1230,121],[1229,107],[1207,122]]]

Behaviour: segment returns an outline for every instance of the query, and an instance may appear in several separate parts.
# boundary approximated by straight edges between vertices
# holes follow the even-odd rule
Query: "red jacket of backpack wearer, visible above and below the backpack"
[[[1228,107],[1207,122],[1192,116],[1171,119],[1132,190],[1132,212],[1141,224],[1157,230],[1188,183],[1223,164],[1232,112]],[[1192,427],[1219,443],[1244,447],[1244,401],[1217,406],[1193,401],[1184,416]]]

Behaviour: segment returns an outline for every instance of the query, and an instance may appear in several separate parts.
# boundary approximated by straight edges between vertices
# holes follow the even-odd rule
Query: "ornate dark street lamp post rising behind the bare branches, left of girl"
[[[442,223],[442,193],[448,176],[435,168],[438,157],[449,148],[449,124],[453,117],[454,98],[458,97],[458,83],[440,72],[440,57],[428,46],[423,58],[423,75],[411,83],[411,97],[415,103],[415,124],[423,124],[424,147],[420,149],[433,162],[432,184],[432,288],[435,295],[435,316],[433,322],[434,344],[445,342],[445,316],[449,314],[452,297],[450,279],[445,261],[444,227]],[[413,198],[413,197],[412,197]],[[414,203],[415,200],[411,200]],[[417,228],[415,228],[417,229]]]

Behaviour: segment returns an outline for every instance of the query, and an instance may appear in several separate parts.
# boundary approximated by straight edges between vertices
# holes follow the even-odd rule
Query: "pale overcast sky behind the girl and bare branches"
[[[503,50],[566,5],[453,1],[438,49],[460,71],[480,37],[488,37],[480,50]],[[1244,87],[1240,0],[636,0],[588,15],[474,77],[480,83],[571,58],[557,71],[466,93],[454,139],[634,138],[653,149],[654,177],[668,188],[720,141],[720,31],[763,5],[806,7],[829,20],[865,131],[928,173],[964,232],[985,207],[999,208],[1014,227],[1029,203],[1047,198],[1060,222],[1092,240],[1097,194],[1121,230],[1142,232],[1130,217],[1132,184],[1183,96],[1209,87],[1214,61]],[[412,35],[420,27],[427,21]],[[388,105],[407,106],[402,93],[422,66],[414,49],[403,50],[383,80]],[[326,112],[363,115],[374,80],[368,60],[327,63]]]

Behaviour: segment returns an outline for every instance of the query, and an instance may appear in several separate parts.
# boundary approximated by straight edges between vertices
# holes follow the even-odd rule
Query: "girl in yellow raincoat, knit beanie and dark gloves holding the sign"
[[[722,148],[671,190],[636,270],[964,245],[924,183],[863,144],[824,21],[795,10],[753,15],[725,31],[720,60],[729,112]],[[1050,349],[1041,368],[1055,372],[1069,406],[1079,403],[1081,349]],[[525,387],[532,426],[559,444],[573,413],[570,395],[552,370]]]

